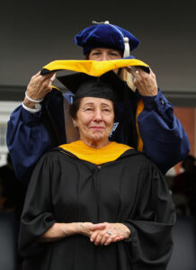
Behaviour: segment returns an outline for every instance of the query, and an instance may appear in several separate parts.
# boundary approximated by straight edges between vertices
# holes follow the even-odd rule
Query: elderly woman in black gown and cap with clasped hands
[[[22,269],[166,269],[175,216],[165,179],[143,153],[109,141],[120,78],[78,74],[73,83],[80,139],[34,169],[22,212]]]

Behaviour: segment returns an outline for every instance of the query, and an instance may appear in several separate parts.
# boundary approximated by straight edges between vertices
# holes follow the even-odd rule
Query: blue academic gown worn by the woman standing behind
[[[71,96],[64,96],[70,103]],[[167,101],[161,90],[156,96],[141,97],[137,92],[129,107],[135,106],[136,109],[140,98],[143,100],[144,109],[138,114],[137,123],[143,141],[142,150],[165,174],[169,168],[188,155],[189,139],[181,122],[174,116],[173,105]],[[36,113],[28,112],[20,105],[8,121],[7,146],[13,159],[15,174],[24,183],[29,182],[31,171],[43,153],[67,142],[63,94],[53,89],[46,100],[41,111]],[[121,112],[123,105],[119,104],[119,107]],[[47,122],[44,121],[46,113]],[[135,117],[132,112],[131,117]],[[123,137],[122,126],[120,113],[110,139],[129,144]],[[52,132],[49,131],[51,127]]]

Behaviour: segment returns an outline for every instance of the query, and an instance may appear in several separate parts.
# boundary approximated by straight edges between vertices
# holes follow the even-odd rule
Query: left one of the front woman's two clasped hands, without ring
[[[78,232],[89,238],[93,235],[94,231],[100,231],[105,229],[105,223],[94,224],[92,222],[79,222],[78,223]]]

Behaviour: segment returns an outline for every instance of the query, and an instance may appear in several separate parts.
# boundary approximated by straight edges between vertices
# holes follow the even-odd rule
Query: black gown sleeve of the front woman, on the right
[[[134,219],[123,221],[130,229],[131,240],[126,245],[131,269],[165,270],[173,250],[174,203],[164,176],[154,164],[145,174],[138,186]]]

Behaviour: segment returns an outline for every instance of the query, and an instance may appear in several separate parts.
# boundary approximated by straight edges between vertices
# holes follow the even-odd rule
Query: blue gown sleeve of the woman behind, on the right
[[[156,96],[143,96],[144,110],[138,115],[138,130],[143,151],[160,170],[166,171],[187,157],[190,142],[174,107],[159,90]]]

